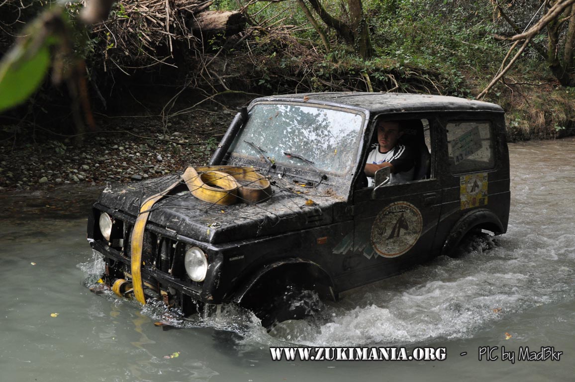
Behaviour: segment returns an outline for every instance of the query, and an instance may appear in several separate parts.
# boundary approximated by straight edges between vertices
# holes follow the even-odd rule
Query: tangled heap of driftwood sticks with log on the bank
[[[173,56],[175,41],[196,47],[214,35],[229,36],[244,29],[239,12],[210,11],[213,1],[122,0],[107,21],[97,24],[93,36],[105,41],[105,61],[118,68],[163,62]],[[162,47],[162,48],[160,48]],[[120,61],[120,62],[118,62]]]

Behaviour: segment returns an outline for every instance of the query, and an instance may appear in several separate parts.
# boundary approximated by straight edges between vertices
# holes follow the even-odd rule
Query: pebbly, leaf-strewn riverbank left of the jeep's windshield
[[[64,184],[137,182],[208,161],[233,112],[198,112],[165,127],[159,117],[114,118],[81,145],[43,135],[0,143],[0,190],[46,190]]]

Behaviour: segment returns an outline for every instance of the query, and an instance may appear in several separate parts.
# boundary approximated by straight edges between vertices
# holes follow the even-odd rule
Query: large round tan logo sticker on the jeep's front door
[[[419,209],[407,201],[397,201],[375,217],[371,245],[383,257],[400,256],[415,245],[422,227]]]

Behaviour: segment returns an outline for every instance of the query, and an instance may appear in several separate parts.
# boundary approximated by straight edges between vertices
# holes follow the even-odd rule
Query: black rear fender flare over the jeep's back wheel
[[[499,217],[488,209],[474,209],[463,215],[451,228],[449,235],[443,243],[442,255],[448,255],[457,247],[461,239],[473,228],[484,228],[495,234],[504,232],[503,224]]]

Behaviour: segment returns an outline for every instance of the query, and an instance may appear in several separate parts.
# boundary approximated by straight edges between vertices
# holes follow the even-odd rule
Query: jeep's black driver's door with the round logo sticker
[[[429,179],[354,191],[353,244],[340,254],[343,273],[337,280],[343,289],[400,273],[434,254],[442,204],[442,186],[435,174],[441,133],[426,123]]]

